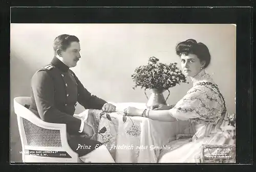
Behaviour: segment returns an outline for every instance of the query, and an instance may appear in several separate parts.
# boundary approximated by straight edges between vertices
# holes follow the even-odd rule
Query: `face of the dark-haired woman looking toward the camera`
[[[181,68],[186,77],[194,77],[197,75],[204,67],[205,62],[201,62],[200,59],[195,54],[182,54],[181,59]]]

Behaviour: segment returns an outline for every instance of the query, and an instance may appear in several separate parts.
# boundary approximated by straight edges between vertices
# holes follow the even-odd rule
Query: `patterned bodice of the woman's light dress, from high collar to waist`
[[[215,133],[226,113],[225,101],[205,70],[190,78],[193,87],[170,109],[170,114],[180,120],[189,120],[195,133],[194,138]]]

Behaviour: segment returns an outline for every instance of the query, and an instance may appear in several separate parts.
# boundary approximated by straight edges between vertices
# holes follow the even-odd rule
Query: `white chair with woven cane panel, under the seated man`
[[[31,112],[30,97],[15,97],[23,162],[81,162],[67,141],[66,124],[45,122]]]

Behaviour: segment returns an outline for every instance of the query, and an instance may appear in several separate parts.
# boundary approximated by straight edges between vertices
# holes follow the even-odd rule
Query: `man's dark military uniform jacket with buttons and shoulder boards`
[[[30,110],[44,121],[66,124],[69,134],[79,134],[81,120],[73,117],[77,102],[86,109],[101,109],[106,103],[84,88],[75,73],[56,57],[36,71],[31,86]]]

